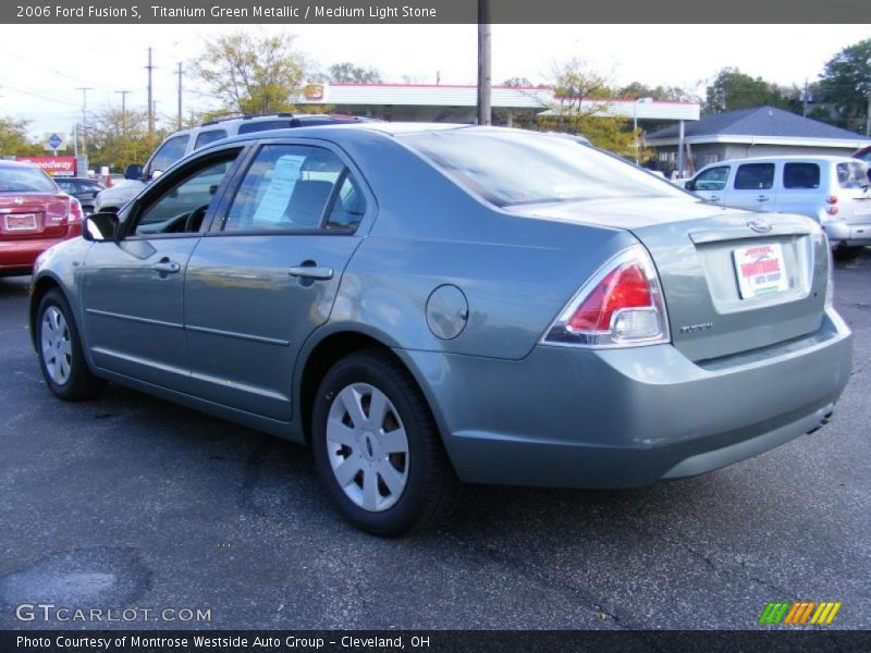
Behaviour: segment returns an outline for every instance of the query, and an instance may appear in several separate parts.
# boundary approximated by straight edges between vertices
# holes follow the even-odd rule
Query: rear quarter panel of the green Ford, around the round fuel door
[[[346,148],[379,212],[345,270],[334,324],[366,324],[400,348],[519,359],[581,283],[636,242],[622,230],[494,209],[384,140]],[[451,340],[427,323],[427,301],[443,284],[468,304],[465,328]]]

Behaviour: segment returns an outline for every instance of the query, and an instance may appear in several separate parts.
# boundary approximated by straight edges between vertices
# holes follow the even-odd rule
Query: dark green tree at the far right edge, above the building
[[[820,75],[820,95],[832,103],[835,123],[848,130],[866,128],[871,98],[871,39],[841,50]]]

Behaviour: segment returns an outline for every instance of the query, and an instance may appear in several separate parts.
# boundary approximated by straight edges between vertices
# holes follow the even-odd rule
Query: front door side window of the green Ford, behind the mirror
[[[164,187],[154,199],[146,196],[145,204],[128,232],[137,236],[196,233],[209,209],[212,197],[220,188],[238,150],[218,159],[209,158],[195,170]]]

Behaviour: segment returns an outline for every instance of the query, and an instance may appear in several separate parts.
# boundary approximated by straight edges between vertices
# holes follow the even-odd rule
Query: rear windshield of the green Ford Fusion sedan
[[[499,207],[687,197],[661,177],[560,135],[461,128],[405,134],[400,139],[458,184]]]

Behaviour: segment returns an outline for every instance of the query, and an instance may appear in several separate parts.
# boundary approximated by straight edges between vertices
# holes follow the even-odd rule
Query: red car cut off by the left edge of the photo
[[[0,161],[0,276],[29,274],[46,249],[82,234],[82,205],[29,163]]]

